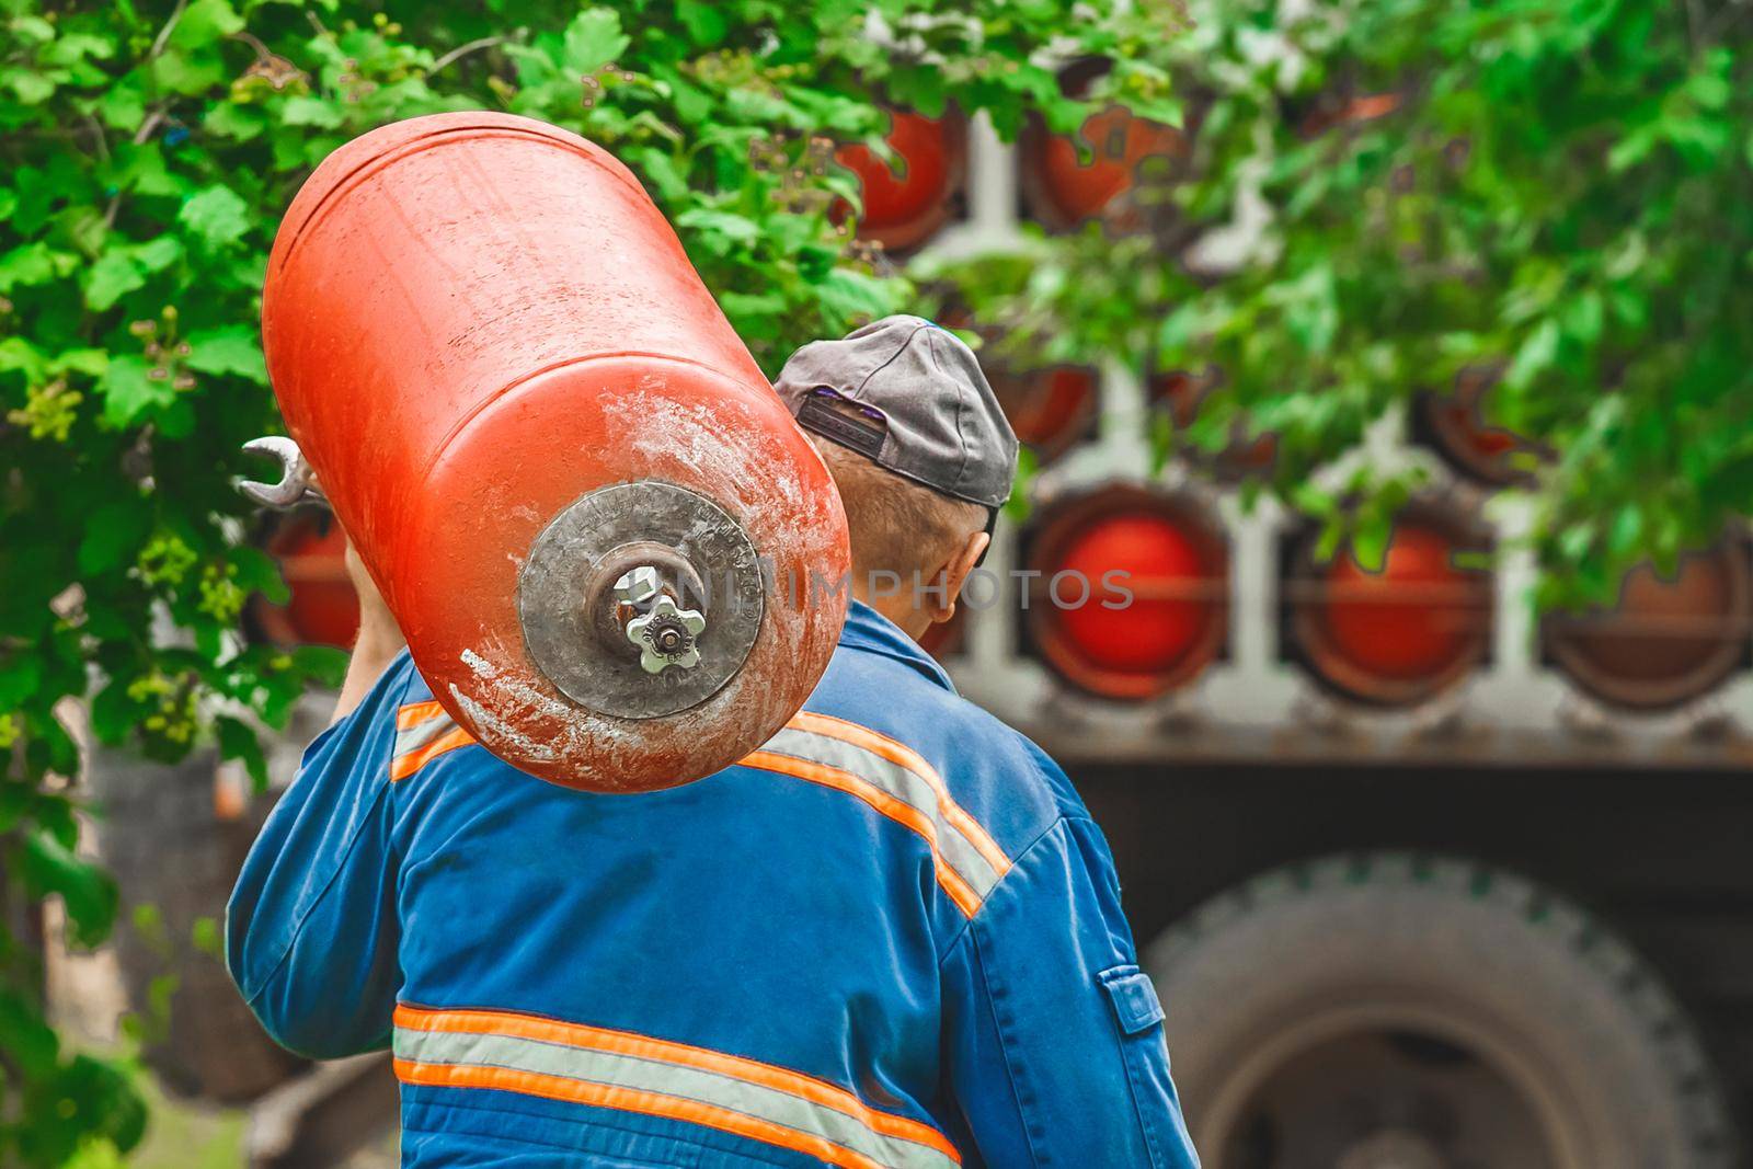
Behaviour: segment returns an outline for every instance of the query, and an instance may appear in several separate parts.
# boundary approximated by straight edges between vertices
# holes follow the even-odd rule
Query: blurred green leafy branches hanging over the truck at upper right
[[[1753,11],[1196,0],[1185,158],[1108,223],[929,263],[1003,347],[1222,380],[1166,450],[1271,433],[1267,489],[1378,563],[1430,477],[1366,443],[1457,372],[1527,456],[1539,603],[1613,603],[1753,514]],[[1343,123],[1355,98],[1385,116]],[[1338,124],[1336,124],[1338,123]],[[1327,126],[1320,130],[1320,126]],[[1125,221],[1141,230],[1125,231]],[[1253,223],[1238,263],[1213,231]],[[1203,261],[1201,261],[1203,259]]]

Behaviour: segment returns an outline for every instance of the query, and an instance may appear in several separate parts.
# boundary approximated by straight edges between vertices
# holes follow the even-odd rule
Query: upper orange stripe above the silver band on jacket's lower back
[[[826,1080],[806,1076],[789,1067],[777,1067],[742,1055],[713,1052],[687,1043],[656,1039],[631,1031],[610,1031],[607,1027],[589,1027],[568,1024],[557,1018],[522,1015],[515,1011],[431,1011],[424,1008],[398,1004],[394,1015],[396,1027],[410,1031],[445,1031],[461,1034],[515,1036],[519,1039],[536,1039],[570,1048],[587,1048],[594,1052],[614,1052],[635,1059],[698,1067],[720,1076],[733,1076],[749,1083],[757,1083],[775,1092],[787,1092],[799,1099],[831,1108],[845,1116],[852,1116],[873,1132],[927,1144],[952,1160],[959,1160],[955,1146],[931,1125],[876,1111],[852,1092],[834,1087]]]

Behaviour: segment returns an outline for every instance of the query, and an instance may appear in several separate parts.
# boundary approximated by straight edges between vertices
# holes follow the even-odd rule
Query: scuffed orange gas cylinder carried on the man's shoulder
[[[673,787],[808,696],[840,498],[608,152],[507,114],[373,130],[293,200],[261,315],[287,429],[496,755]]]

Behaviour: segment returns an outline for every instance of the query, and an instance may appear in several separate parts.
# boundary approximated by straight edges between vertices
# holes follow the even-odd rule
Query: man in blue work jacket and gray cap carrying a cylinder
[[[803,712],[684,787],[524,776],[442,717],[354,564],[337,720],[244,866],[233,978],[296,1052],[393,1046],[405,1165],[1197,1165],[1101,831],[913,641],[1015,475],[975,356],[889,317],[777,389],[852,536]]]

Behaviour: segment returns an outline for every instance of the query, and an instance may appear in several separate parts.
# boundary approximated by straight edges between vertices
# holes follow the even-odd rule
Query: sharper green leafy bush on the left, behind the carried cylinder
[[[1117,58],[1090,100],[1152,109],[1178,25],[1069,0],[0,0],[4,922],[60,896],[75,941],[112,924],[114,889],[74,852],[67,699],[93,694],[102,741],[175,757],[212,736],[259,775],[258,727],[340,666],[237,634],[247,596],[284,585],[231,487],[259,470],[238,445],[277,426],[266,251],[330,151],[456,109],[577,130],[642,177],[773,370],[910,303],[827,214],[857,196],[833,144],[878,142],[878,100],[1071,130],[1092,107],[1054,60]],[[142,1123],[116,1066],[63,1050],[37,955],[0,934],[0,1164],[103,1164]]]

